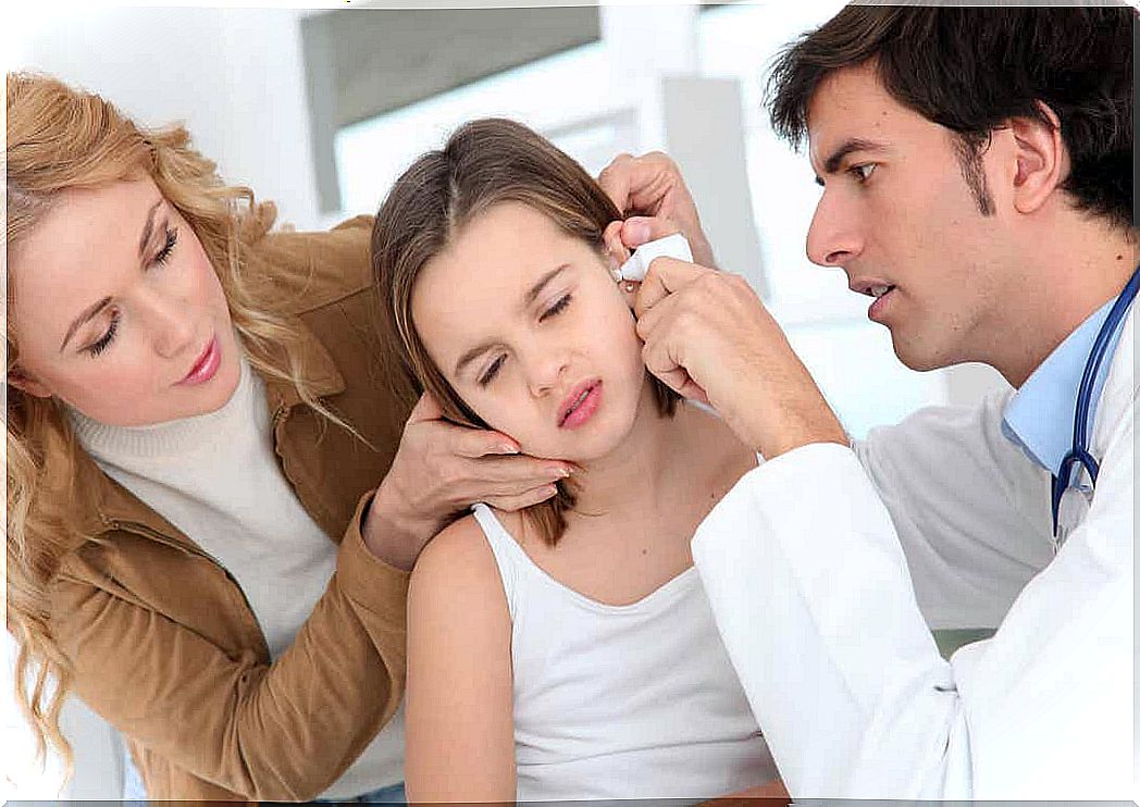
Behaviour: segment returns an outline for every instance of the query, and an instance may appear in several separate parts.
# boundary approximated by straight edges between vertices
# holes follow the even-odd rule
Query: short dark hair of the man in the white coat
[[[958,134],[962,176],[984,214],[990,133],[1010,117],[1060,121],[1077,210],[1127,230],[1132,210],[1132,46],[1123,6],[920,8],[847,6],[777,57],[767,84],[773,129],[799,146],[832,72],[873,62],[887,92]]]

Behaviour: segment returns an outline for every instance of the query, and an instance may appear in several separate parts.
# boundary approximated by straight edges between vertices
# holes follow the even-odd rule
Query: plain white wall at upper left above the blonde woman
[[[298,18],[288,8],[19,10],[7,66],[97,91],[149,125],[185,121],[227,181],[318,226]],[[6,26],[7,27],[7,26]]]

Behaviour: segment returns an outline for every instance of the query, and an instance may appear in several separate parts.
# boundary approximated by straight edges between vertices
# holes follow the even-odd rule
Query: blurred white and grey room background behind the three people
[[[298,229],[375,212],[404,168],[472,117],[528,123],[595,176],[620,152],[662,149],[720,268],[754,285],[854,437],[1004,383],[976,365],[906,369],[869,299],[805,256],[821,190],[769,130],[764,80],[783,43],[842,2],[448,5],[24,5],[0,11],[0,54],[6,70],[52,73],[147,124],[185,122],[227,181]],[[6,633],[0,796],[58,798],[58,760],[32,764],[13,702],[11,644]],[[115,733],[79,703],[65,728],[76,775],[63,796],[120,798]]]

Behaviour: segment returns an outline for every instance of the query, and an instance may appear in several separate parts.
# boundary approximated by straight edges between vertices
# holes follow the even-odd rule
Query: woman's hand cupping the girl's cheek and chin
[[[427,541],[475,502],[522,510],[554,496],[554,483],[570,471],[569,463],[520,455],[500,432],[443,419],[424,393],[367,511],[365,544],[386,563],[412,569]]]

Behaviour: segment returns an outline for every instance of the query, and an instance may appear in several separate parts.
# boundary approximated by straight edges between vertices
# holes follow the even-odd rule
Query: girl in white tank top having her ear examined
[[[456,422],[577,467],[521,514],[477,505],[418,561],[416,800],[701,799],[775,777],[689,549],[756,457],[646,373],[633,288],[610,272],[619,218],[503,120],[421,157],[377,215],[406,372]]]

